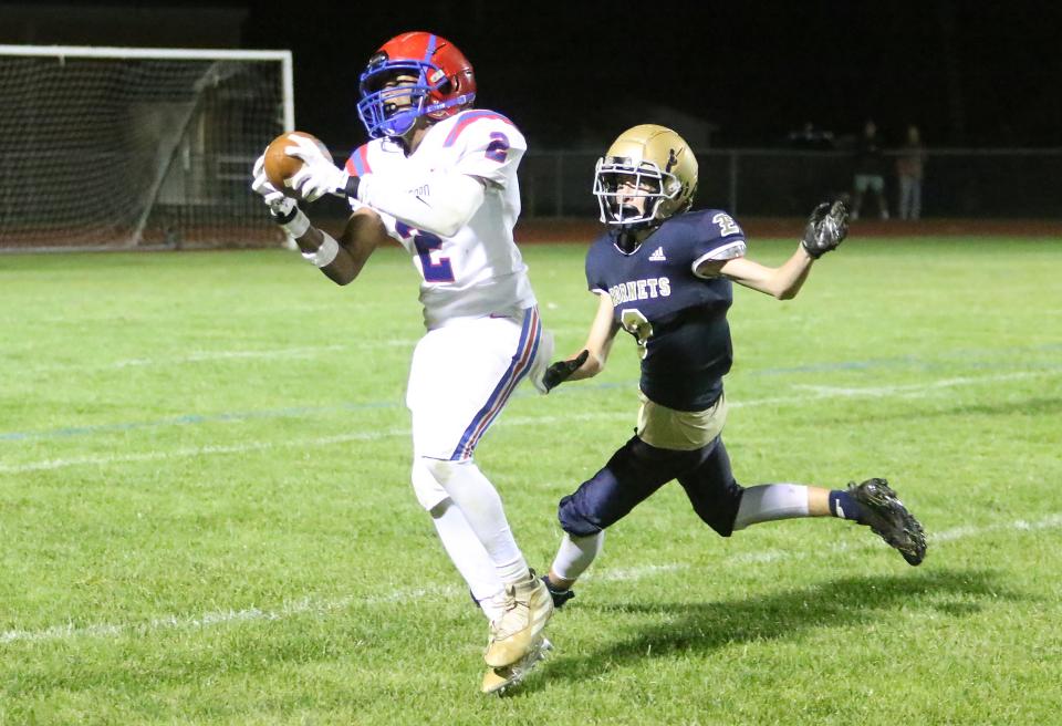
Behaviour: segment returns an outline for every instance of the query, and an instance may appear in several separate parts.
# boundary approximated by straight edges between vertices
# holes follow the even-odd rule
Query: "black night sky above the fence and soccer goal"
[[[597,148],[660,107],[712,124],[715,147],[784,145],[809,121],[843,137],[868,117],[888,143],[914,123],[930,147],[1058,147],[1060,7],[0,2],[0,42],[290,49],[296,125],[337,146],[365,138],[354,102],[372,52],[398,32],[430,30],[471,60],[477,105],[508,115],[538,148]],[[208,32],[216,21],[227,37]]]

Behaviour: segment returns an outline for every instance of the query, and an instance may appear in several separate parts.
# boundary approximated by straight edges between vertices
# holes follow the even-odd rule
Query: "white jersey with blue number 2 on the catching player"
[[[512,122],[477,108],[434,124],[408,157],[395,142],[376,138],[347,159],[350,174],[389,177],[398,185],[439,172],[475,176],[486,184],[483,204],[452,237],[414,229],[379,214],[420,273],[420,302],[429,330],[457,319],[511,314],[535,304],[528,268],[512,239],[520,215],[517,167],[525,151],[527,142]],[[356,208],[358,203],[351,205]]]

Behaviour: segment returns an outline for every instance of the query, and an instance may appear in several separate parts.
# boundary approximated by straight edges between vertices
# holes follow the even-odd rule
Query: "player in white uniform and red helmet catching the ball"
[[[269,184],[263,158],[252,188],[303,257],[346,284],[378,246],[397,240],[420,274],[427,333],[413,354],[413,486],[442,546],[490,621],[482,689],[520,680],[550,643],[544,584],[517,546],[476,445],[529,372],[552,354],[527,266],[512,238],[520,214],[517,167],[523,136],[501,114],[472,110],[472,66],[449,41],[398,35],[361,76],[358,115],[372,137],[343,169],[312,142],[291,136],[303,160],[288,180],[313,201],[344,196],[353,214],[333,239]]]

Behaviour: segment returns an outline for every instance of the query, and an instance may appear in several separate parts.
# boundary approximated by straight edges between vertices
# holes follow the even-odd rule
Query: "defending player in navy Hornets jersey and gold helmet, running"
[[[726,211],[689,211],[696,188],[697,159],[663,126],[624,132],[597,162],[594,195],[608,227],[586,255],[597,314],[583,350],[549,366],[543,384],[550,390],[600,373],[623,329],[642,357],[642,407],[635,435],[561,499],[565,533],[544,578],[558,605],[574,595],[571,587],[601,551],[604,530],[673,479],[723,537],[764,521],[833,516],[868,526],[910,564],[926,553],[922,526],[885,479],[834,490],[746,488],[735,480],[721,437],[732,283],[793,298],[812,263],[844,240],[847,210],[841,201],[819,205],[796,251],[772,268],[745,256],[745,234]]]

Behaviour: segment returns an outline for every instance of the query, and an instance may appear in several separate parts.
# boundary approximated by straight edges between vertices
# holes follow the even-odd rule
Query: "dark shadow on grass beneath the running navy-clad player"
[[[957,603],[956,597],[961,597],[962,602]],[[998,602],[1024,600],[1028,595],[1006,591],[991,571],[936,570],[847,578],[762,598],[709,603],[584,604],[576,600],[573,605],[591,611],[604,629],[611,628],[617,618],[631,615],[655,618],[658,622],[621,625],[616,640],[594,652],[576,654],[562,650],[527,685],[533,689],[551,680],[594,678],[603,670],[676,651],[708,652],[735,643],[795,639],[812,629],[874,624],[888,618],[887,611],[966,616],[981,609],[980,599]],[[563,629],[556,625],[564,615],[561,611],[554,618],[553,632]]]

